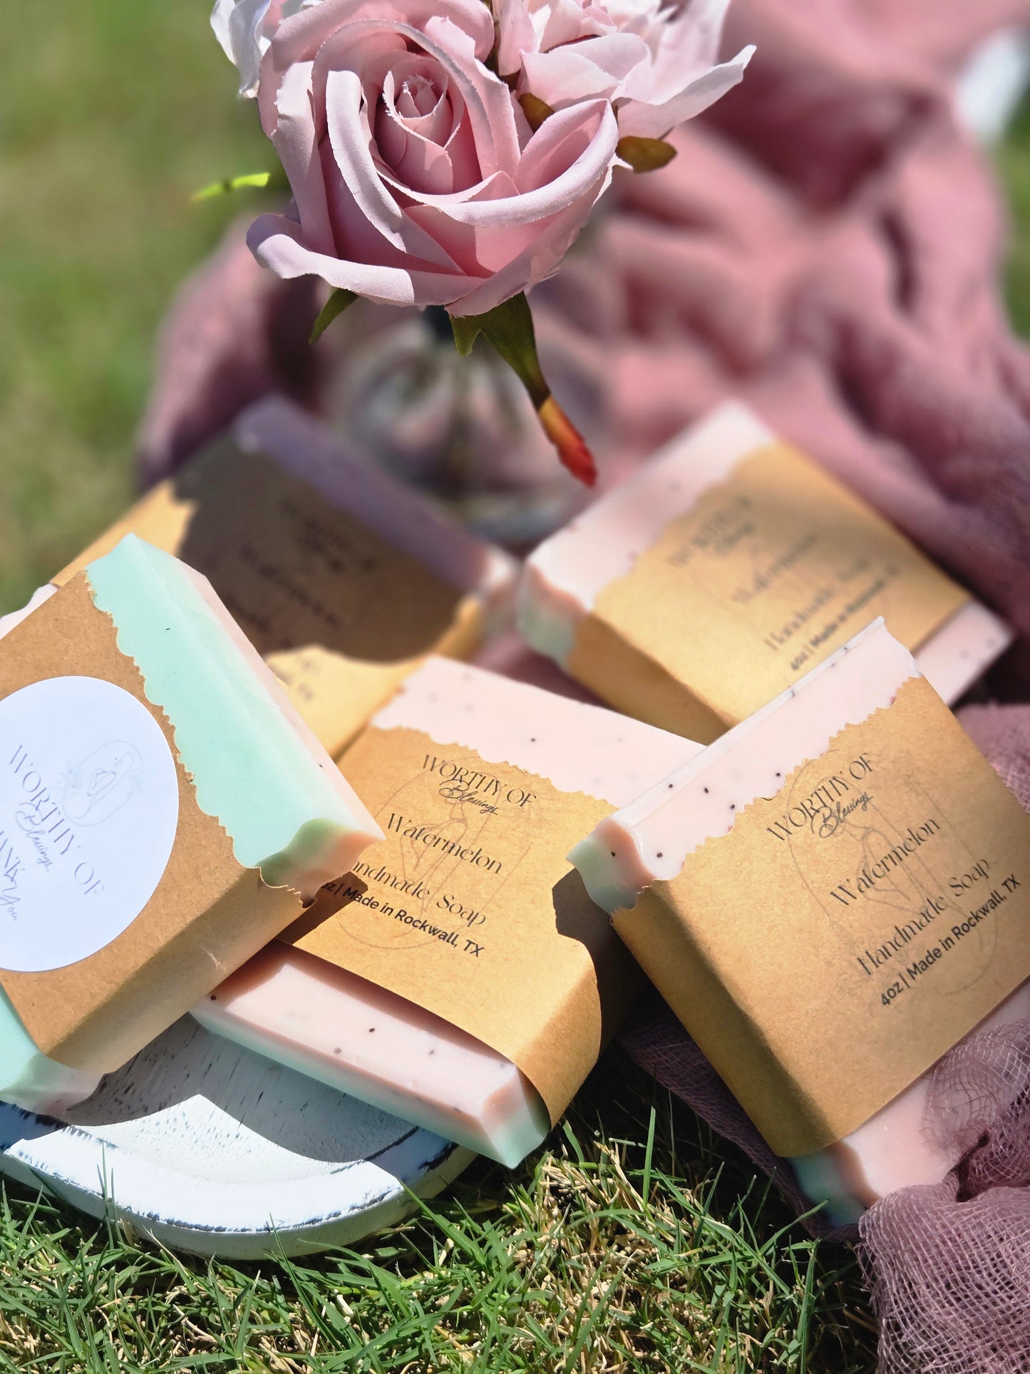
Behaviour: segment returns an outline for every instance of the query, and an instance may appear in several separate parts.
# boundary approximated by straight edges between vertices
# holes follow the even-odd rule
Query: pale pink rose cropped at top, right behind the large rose
[[[497,69],[553,110],[611,100],[619,136],[662,139],[744,74],[718,62],[729,0],[497,0]]]

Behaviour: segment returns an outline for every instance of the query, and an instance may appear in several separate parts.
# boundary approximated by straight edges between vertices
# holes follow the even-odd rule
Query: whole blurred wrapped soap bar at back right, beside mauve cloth
[[[898,530],[739,404],[545,540],[523,635],[603,701],[710,742],[883,616],[945,701],[1011,643]]]

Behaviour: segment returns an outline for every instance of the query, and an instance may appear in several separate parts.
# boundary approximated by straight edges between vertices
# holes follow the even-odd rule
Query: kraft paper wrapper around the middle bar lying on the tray
[[[427,760],[446,763],[444,774],[457,764],[497,779],[497,794],[490,785],[457,787],[496,812],[441,796],[453,791],[453,779]],[[613,808],[400,727],[371,727],[341,767],[386,840],[284,938],[511,1059],[558,1121],[640,991],[640,970],[566,859]],[[400,834],[397,816],[466,857]],[[470,859],[475,853],[482,863]]]

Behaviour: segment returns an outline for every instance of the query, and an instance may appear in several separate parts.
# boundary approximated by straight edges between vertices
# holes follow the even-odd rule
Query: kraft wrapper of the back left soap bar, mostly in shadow
[[[466,658],[482,636],[474,595],[229,440],[144,496],[54,581],[129,533],[209,578],[334,758],[427,654]]]

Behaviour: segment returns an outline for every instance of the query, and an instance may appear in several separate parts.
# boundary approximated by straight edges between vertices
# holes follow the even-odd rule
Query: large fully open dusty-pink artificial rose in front
[[[294,192],[249,243],[279,276],[481,315],[552,273],[611,179],[607,99],[536,133],[485,66],[482,0],[321,0],[286,18],[258,106]]]

